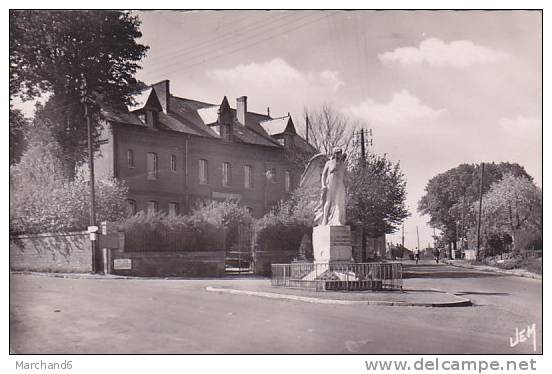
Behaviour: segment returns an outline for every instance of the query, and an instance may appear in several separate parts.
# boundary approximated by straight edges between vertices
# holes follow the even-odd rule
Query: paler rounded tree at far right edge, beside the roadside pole
[[[527,178],[506,174],[483,197],[482,225],[492,233],[507,232],[521,250],[522,231],[542,232],[542,191]]]

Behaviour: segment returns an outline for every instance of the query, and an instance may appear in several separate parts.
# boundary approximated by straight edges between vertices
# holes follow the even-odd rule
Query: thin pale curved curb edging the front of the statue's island
[[[384,305],[384,306],[421,306],[421,307],[433,307],[433,308],[444,308],[444,307],[460,307],[460,306],[471,306],[472,302],[470,299],[452,295],[455,298],[459,298],[459,301],[451,301],[444,303],[416,303],[416,302],[407,302],[407,301],[383,301],[383,300],[336,300],[336,299],[319,299],[316,297],[309,296],[298,296],[298,295],[288,295],[280,294],[275,292],[262,292],[262,291],[247,291],[247,290],[235,290],[231,288],[217,288],[208,286],[205,288],[208,292],[218,292],[218,293],[227,293],[231,295],[247,295],[247,296],[257,296],[264,297],[268,299],[280,299],[280,300],[294,300],[302,301],[313,304],[331,304],[331,305]],[[442,292],[442,291],[437,291]],[[444,292],[449,294],[448,292]]]

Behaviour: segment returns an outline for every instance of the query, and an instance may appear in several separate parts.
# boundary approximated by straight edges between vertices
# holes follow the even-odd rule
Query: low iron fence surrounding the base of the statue
[[[272,285],[316,291],[398,290],[402,288],[402,264],[272,264]]]

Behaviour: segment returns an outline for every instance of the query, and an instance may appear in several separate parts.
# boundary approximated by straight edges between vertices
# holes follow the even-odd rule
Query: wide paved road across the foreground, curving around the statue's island
[[[542,282],[448,265],[409,267],[405,287],[462,292],[473,307],[345,306],[206,292],[229,282],[11,276],[14,353],[532,353]]]

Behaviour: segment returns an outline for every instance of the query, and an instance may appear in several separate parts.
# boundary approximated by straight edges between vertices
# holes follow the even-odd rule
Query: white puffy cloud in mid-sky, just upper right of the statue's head
[[[407,90],[396,92],[387,103],[377,103],[371,98],[346,109],[349,114],[369,124],[409,124],[413,121],[440,117],[445,109],[433,109]]]

